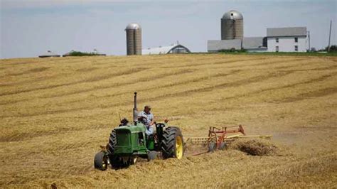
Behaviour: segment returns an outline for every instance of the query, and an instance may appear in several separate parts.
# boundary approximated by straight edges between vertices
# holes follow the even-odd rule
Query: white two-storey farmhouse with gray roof
[[[267,28],[268,52],[306,52],[306,27]]]

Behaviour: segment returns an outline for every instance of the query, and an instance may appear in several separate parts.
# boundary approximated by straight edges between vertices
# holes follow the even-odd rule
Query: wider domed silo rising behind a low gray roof
[[[238,11],[228,11],[221,18],[221,40],[243,38],[243,16]]]

